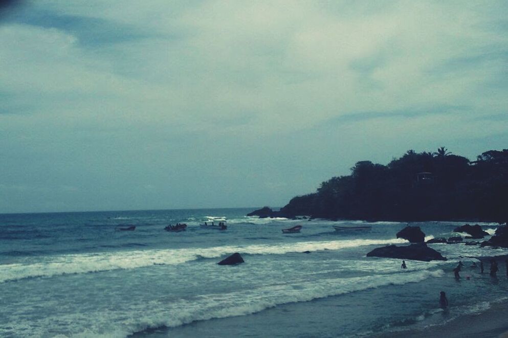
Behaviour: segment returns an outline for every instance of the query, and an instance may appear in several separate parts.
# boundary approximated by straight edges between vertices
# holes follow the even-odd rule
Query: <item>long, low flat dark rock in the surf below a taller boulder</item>
[[[425,243],[411,244],[408,246],[388,245],[378,247],[367,254],[367,257],[385,257],[385,258],[399,258],[399,259],[412,259],[417,261],[429,262],[432,260],[444,260],[439,252],[428,247]]]

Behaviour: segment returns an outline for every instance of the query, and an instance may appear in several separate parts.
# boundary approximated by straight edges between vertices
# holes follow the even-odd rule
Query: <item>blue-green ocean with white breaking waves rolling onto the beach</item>
[[[507,299],[471,267],[506,249],[429,244],[448,261],[366,257],[400,222],[259,219],[250,209],[0,215],[2,337],[343,337],[440,325]],[[226,219],[227,230],[203,229]],[[183,222],[187,230],[164,231]],[[283,234],[297,224],[300,233]],[[427,239],[463,222],[415,222]],[[336,232],[334,225],[369,225]],[[497,224],[480,223],[493,234]],[[118,228],[136,226],[135,231]],[[245,263],[217,262],[238,252]],[[306,253],[308,252],[308,253]],[[466,266],[456,280],[453,268]],[[469,279],[466,277],[469,276]],[[450,308],[439,308],[439,291]]]

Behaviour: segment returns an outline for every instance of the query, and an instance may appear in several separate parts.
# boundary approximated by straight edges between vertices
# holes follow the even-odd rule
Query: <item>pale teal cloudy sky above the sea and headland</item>
[[[508,148],[505,1],[0,2],[0,213],[284,206]]]

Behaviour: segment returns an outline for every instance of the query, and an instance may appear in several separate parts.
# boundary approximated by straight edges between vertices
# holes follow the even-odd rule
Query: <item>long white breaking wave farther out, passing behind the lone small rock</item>
[[[405,239],[355,239],[320,242],[214,246],[192,249],[137,250],[42,257],[31,263],[0,265],[0,282],[30,277],[52,277],[151,265],[182,264],[198,258],[218,258],[234,252],[251,255],[283,255],[291,252],[341,250],[364,245],[406,243]]]

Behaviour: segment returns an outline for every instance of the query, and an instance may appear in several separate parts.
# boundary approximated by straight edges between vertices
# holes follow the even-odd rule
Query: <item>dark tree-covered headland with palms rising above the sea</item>
[[[388,165],[358,162],[348,176],[293,198],[286,216],[365,220],[508,220],[508,149],[470,162],[441,147],[407,151]]]

